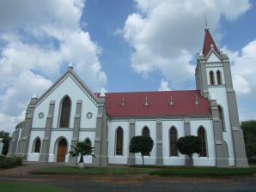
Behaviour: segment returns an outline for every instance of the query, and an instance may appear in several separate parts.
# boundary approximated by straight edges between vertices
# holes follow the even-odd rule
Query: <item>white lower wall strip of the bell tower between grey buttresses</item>
[[[234,160],[234,148],[231,134],[231,125],[229,120],[229,106],[227,99],[226,87],[209,87],[209,93],[211,98],[215,98],[218,105],[222,106],[224,115],[224,125],[226,131],[223,131],[223,139],[227,142],[229,148],[229,165],[235,165]]]

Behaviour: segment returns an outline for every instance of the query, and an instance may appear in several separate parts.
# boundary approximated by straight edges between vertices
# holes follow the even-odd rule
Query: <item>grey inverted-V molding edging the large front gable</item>
[[[82,90],[83,93],[85,93],[88,96],[88,99],[90,99],[94,105],[98,106],[98,98],[94,95],[94,93],[88,88],[88,86],[85,85],[85,83],[82,81],[82,79],[76,75],[76,73],[73,70],[68,70],[64,75],[62,75],[58,81],[56,81],[52,87],[48,88],[45,93],[43,93],[40,98],[37,100],[35,107],[40,105],[52,92],[54,92],[55,89],[57,89],[68,77],[70,77],[78,87]]]

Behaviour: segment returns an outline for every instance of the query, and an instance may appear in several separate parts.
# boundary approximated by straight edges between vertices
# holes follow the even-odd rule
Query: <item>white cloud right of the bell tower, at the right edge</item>
[[[256,39],[245,45],[239,51],[230,51],[223,47],[231,62],[233,85],[238,96],[241,120],[255,119],[256,94]]]

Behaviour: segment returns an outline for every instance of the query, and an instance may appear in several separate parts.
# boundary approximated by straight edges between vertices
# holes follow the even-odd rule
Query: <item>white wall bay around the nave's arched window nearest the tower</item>
[[[214,134],[212,129],[211,120],[191,120],[191,135],[198,135],[198,128],[204,127],[206,137],[206,157],[199,157],[197,153],[193,154],[194,165],[200,166],[215,166],[216,165],[216,153],[215,153],[215,142]]]

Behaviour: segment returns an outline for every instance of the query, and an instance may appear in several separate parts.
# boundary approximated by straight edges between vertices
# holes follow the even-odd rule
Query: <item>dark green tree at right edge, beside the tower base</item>
[[[256,121],[241,122],[241,129],[244,134],[247,159],[253,163],[256,160]]]

